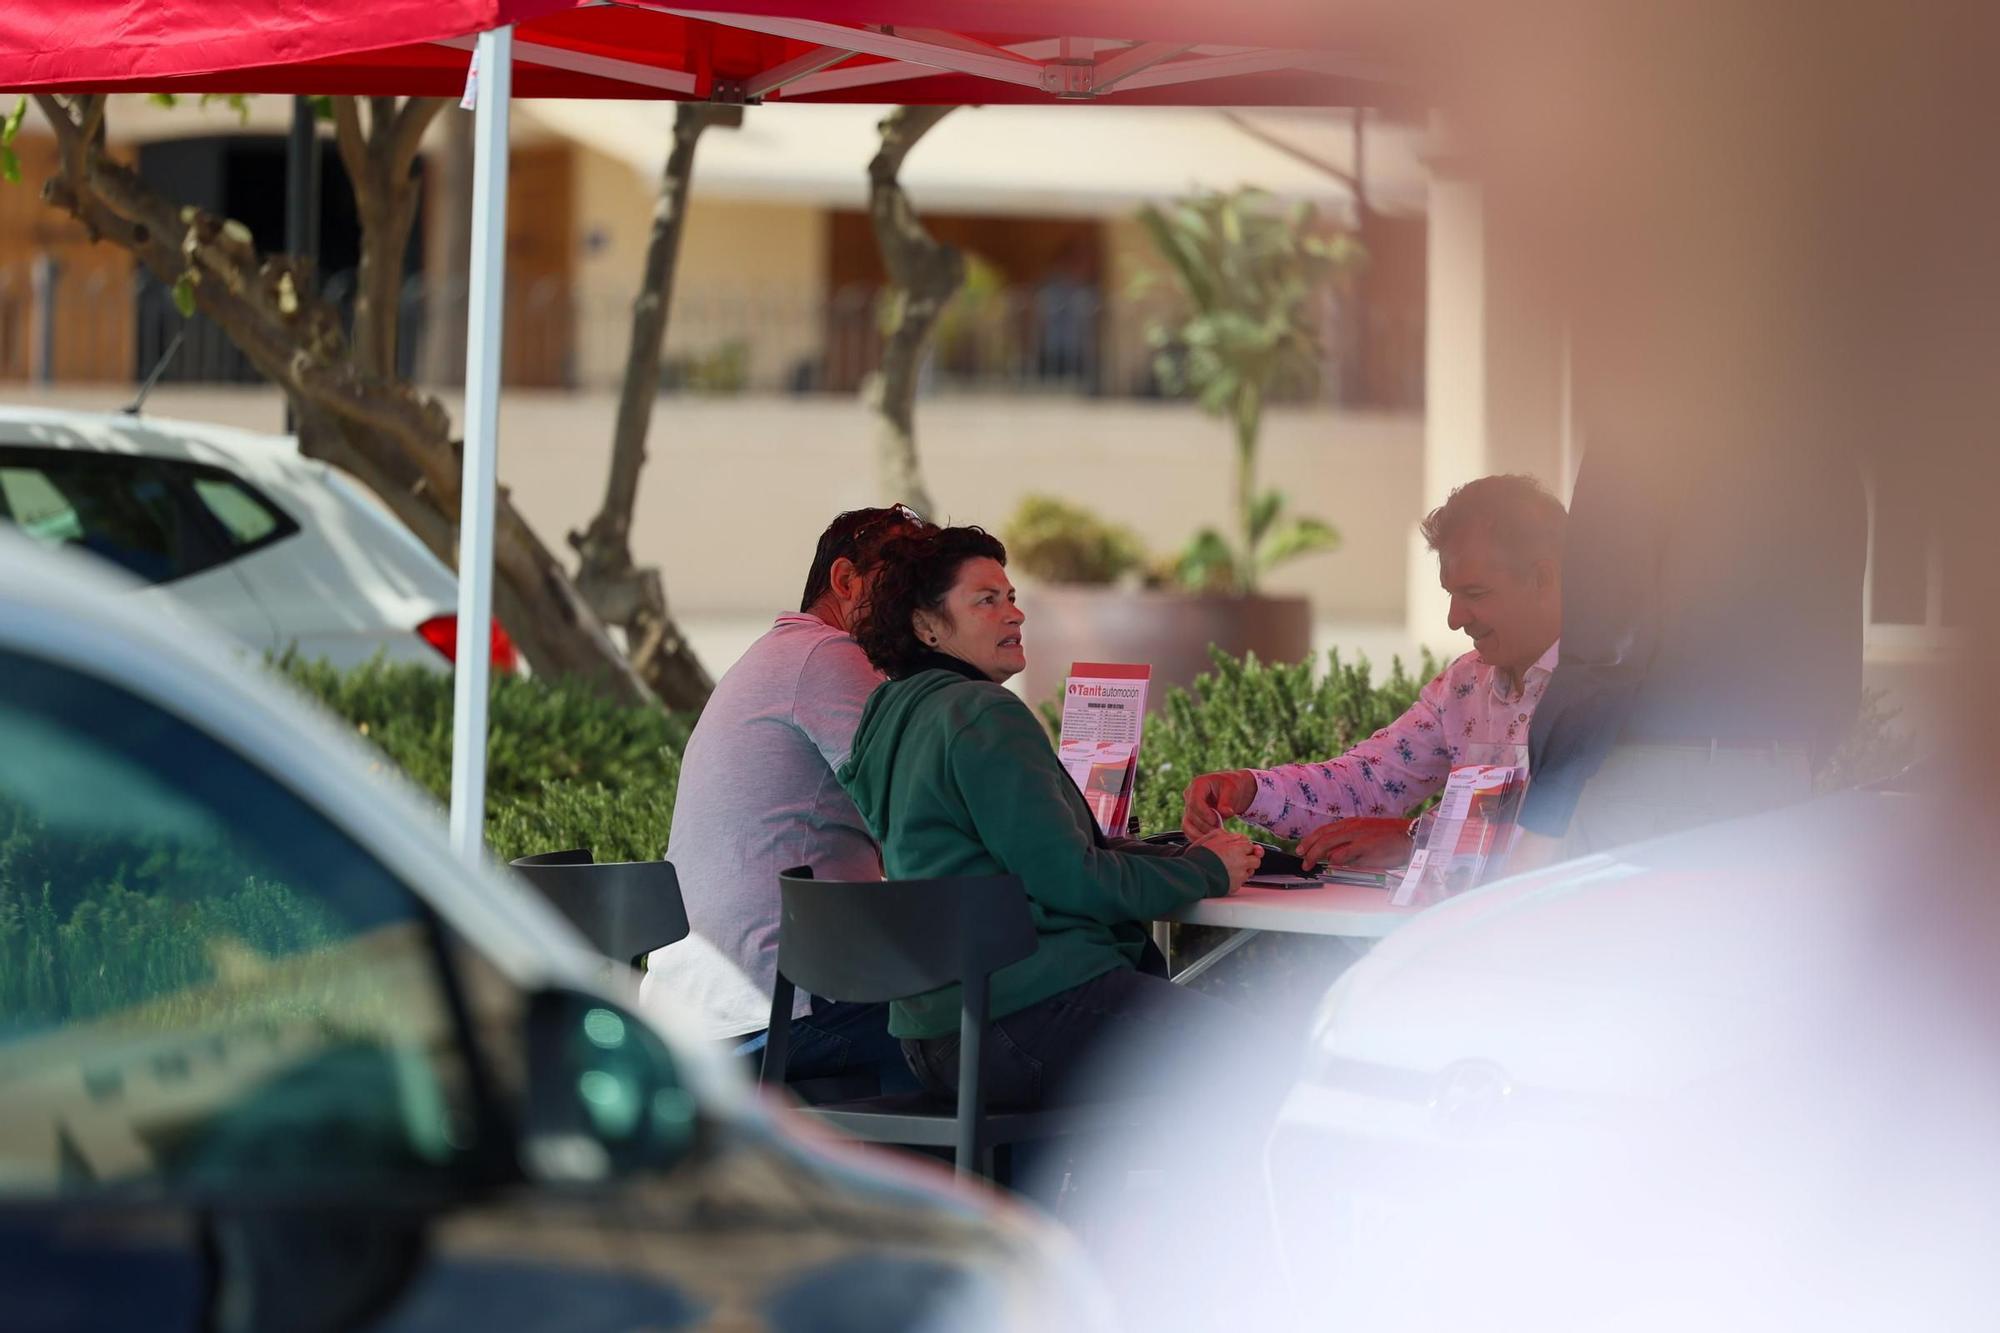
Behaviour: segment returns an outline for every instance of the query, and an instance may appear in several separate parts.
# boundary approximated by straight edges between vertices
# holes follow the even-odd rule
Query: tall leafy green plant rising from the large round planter
[[[1146,206],[1140,222],[1182,304],[1178,318],[1148,330],[1154,372],[1170,392],[1188,392],[1228,420],[1236,442],[1234,540],[1196,532],[1176,572],[1190,588],[1252,596],[1272,566],[1340,544],[1332,524],[1286,516],[1282,492],[1258,490],[1256,448],[1272,396],[1318,384],[1314,296],[1358,266],[1362,248],[1310,204],[1280,210],[1260,190]]]

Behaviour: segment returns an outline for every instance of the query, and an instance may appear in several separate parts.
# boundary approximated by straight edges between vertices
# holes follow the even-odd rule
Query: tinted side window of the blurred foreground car
[[[0,652],[0,1205],[452,1179],[470,1069],[424,905],[268,775]]]

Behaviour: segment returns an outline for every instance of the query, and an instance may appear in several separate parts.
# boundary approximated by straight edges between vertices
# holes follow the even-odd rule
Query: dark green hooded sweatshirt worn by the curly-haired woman
[[[1210,851],[1106,845],[1034,713],[990,681],[932,669],[876,687],[836,777],[882,845],[888,879],[1020,877],[1040,943],[994,973],[996,1019],[1136,967],[1140,923],[1230,887]],[[946,1037],[958,1005],[960,987],[898,1001],[888,1031]]]

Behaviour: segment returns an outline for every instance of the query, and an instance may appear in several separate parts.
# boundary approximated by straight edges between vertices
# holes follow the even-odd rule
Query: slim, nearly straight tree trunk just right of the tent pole
[[[570,544],[580,556],[578,592],[600,620],[624,628],[632,669],[668,709],[700,709],[708,703],[714,681],[674,624],[660,572],[632,562],[632,508],[638,502],[638,476],[646,466],[652,408],[660,398],[660,348],[666,344],[666,318],[674,304],[694,148],[702,130],[714,124],[740,126],[742,108],[682,102],[674,112],[674,146],[660,172],[660,196],[646,240],[646,268],[632,298],[632,344],[618,394],[618,424],[612,428],[612,466],[604,504],[584,532],[570,534]]]

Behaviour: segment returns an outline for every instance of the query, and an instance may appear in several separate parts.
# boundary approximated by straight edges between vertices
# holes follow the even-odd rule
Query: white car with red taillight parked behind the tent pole
[[[458,580],[290,436],[0,406],[0,520],[88,550],[256,654],[448,666]],[[494,666],[516,669],[506,630]]]

